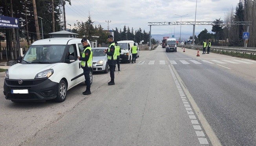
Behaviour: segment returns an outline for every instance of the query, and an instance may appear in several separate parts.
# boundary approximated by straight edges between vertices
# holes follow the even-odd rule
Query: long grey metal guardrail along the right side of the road
[[[182,47],[182,45],[178,45],[178,47]],[[202,49],[203,47],[202,46],[190,46],[190,45],[183,45],[183,47],[185,48],[188,48],[188,49]],[[248,48],[248,47],[247,47]],[[207,49],[207,48],[206,48]],[[252,55],[256,54],[256,48],[248,48],[248,49],[243,49],[243,48],[230,48],[230,47],[216,47],[216,46],[211,46],[210,47],[210,50],[218,50],[219,51],[226,51],[226,52],[236,52],[236,54],[238,53],[247,53],[247,54],[251,54],[251,57],[252,58]]]

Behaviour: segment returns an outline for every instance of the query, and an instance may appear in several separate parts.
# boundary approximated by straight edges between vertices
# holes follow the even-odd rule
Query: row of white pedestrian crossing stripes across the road
[[[176,64],[202,64],[202,62],[204,63],[208,63],[208,64],[227,64],[227,63],[231,63],[231,64],[241,64],[241,63],[245,63],[245,64],[253,64],[253,62],[248,62],[250,60],[246,60],[246,61],[242,61],[242,60],[237,60],[237,59],[232,59],[232,60],[215,60],[215,59],[211,59],[211,60],[200,60],[202,62],[199,62],[199,60],[169,60],[170,64],[172,65],[176,65]],[[143,65],[145,64],[146,61],[140,61],[139,63],[137,63],[137,65]],[[146,62],[148,65],[154,65],[154,64],[159,64],[159,65],[165,65],[167,64],[165,60],[159,60],[156,62],[155,60],[150,60]],[[254,62],[256,63],[256,62]]]

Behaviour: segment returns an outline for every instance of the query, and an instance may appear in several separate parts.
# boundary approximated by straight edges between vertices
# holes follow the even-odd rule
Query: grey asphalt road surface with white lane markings
[[[91,95],[80,84],[62,103],[2,94],[0,145],[254,145],[256,62],[196,53],[140,51],[114,86],[109,73],[94,73]]]

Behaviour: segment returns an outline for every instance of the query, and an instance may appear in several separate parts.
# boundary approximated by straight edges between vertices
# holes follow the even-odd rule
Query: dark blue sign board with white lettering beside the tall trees
[[[0,16],[0,27],[20,28],[18,18]]]

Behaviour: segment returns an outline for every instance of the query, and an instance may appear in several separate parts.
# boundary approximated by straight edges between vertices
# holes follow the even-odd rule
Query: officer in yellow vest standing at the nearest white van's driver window
[[[84,78],[86,83],[86,90],[83,92],[83,95],[90,95],[91,94],[91,81],[90,81],[90,72],[92,67],[92,52],[91,47],[86,38],[82,38],[81,40],[82,45],[84,46],[84,51],[82,57],[78,57],[81,60],[81,66],[84,70]],[[92,76],[92,74],[91,74]]]

